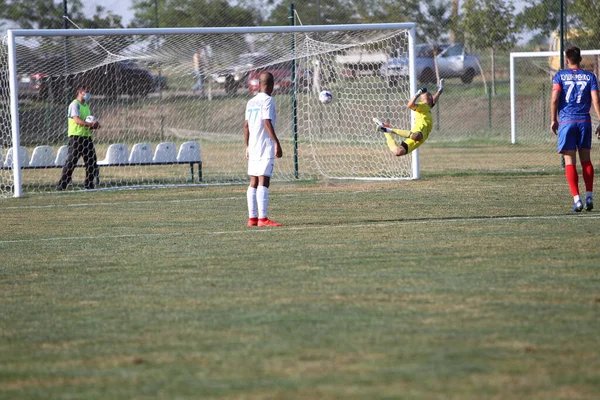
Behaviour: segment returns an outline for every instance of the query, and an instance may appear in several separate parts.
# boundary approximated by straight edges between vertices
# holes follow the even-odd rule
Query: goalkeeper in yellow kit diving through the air
[[[431,95],[427,91],[427,88],[422,88],[410,99],[407,107],[416,113],[415,125],[410,131],[392,128],[389,123],[383,123],[377,118],[373,118],[373,121],[377,124],[377,131],[385,134],[385,141],[394,155],[398,157],[406,155],[427,140],[433,128],[431,109],[437,103],[443,90],[444,80],[440,79],[440,84],[435,94]],[[398,145],[396,139],[394,139],[394,135],[405,139]]]

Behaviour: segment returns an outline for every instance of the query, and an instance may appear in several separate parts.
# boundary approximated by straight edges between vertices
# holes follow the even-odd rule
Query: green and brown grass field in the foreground
[[[0,202],[2,399],[594,399],[600,212],[562,173]]]

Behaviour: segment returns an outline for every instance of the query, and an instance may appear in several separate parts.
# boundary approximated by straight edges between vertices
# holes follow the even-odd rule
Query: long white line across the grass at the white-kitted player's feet
[[[201,235],[237,235],[237,234],[256,234],[265,232],[286,232],[286,231],[312,231],[312,230],[327,230],[327,229],[357,229],[357,228],[386,228],[398,225],[424,225],[424,224],[466,224],[474,222],[485,222],[493,223],[497,221],[532,221],[532,220],[564,220],[573,218],[591,218],[600,219],[600,213],[589,215],[588,213],[582,214],[562,214],[562,215],[523,215],[523,216],[490,216],[490,217],[470,217],[470,218],[432,218],[432,219],[419,219],[419,220],[398,220],[393,222],[373,222],[373,223],[362,223],[362,224],[339,224],[339,225],[321,225],[321,226],[290,226],[290,227],[278,227],[278,228],[246,228],[231,231],[206,231],[206,232],[193,232],[194,237]],[[98,235],[98,236],[69,236],[69,237],[50,237],[50,238],[36,238],[36,239],[17,239],[17,240],[0,240],[1,244],[11,243],[31,243],[31,242],[56,242],[63,240],[102,240],[102,239],[138,239],[144,237],[173,237],[173,236],[184,236],[189,235],[192,232],[171,232],[171,233],[139,233],[139,234],[122,234],[122,235]]]

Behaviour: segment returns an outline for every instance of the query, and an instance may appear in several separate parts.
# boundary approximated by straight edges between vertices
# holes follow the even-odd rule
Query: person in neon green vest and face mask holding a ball
[[[86,118],[91,115],[90,92],[84,86],[77,89],[77,98],[69,104],[69,148],[67,161],[63,166],[62,176],[56,185],[56,190],[65,190],[71,178],[79,157],[83,157],[85,163],[85,183],[86,189],[94,188],[94,178],[96,175],[97,158],[96,149],[92,142],[92,129],[100,128],[98,121],[87,122]]]

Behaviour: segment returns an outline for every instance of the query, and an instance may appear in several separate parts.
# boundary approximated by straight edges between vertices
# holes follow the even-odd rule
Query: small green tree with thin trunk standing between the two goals
[[[512,0],[466,0],[462,29],[468,45],[490,49],[492,94],[496,94],[496,50],[506,50],[517,42],[515,7]]]

